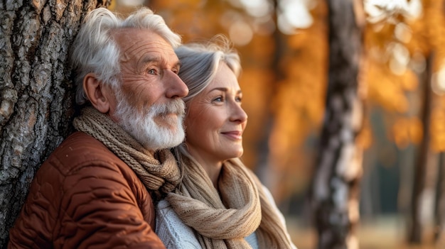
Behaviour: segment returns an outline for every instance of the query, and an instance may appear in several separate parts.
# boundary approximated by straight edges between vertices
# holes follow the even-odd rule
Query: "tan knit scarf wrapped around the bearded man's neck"
[[[97,109],[85,107],[73,124],[78,131],[100,140],[126,162],[156,198],[171,192],[180,182],[181,172],[170,150],[159,150],[155,158],[149,150]]]

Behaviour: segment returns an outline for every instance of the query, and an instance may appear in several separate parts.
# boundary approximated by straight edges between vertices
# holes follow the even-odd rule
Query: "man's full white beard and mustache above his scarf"
[[[124,94],[122,94],[124,95]],[[183,118],[185,104],[182,99],[175,99],[168,104],[154,104],[140,113],[130,105],[126,96],[119,98],[114,116],[118,124],[132,135],[147,150],[161,150],[173,148],[183,142],[185,132]],[[166,114],[176,114],[177,118],[171,118]],[[168,118],[170,126],[159,126],[154,118]]]

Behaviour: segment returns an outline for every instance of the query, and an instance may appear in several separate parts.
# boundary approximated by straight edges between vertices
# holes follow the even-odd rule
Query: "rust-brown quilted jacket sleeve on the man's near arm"
[[[132,177],[125,174],[112,163],[96,160],[67,176],[55,244],[63,248],[165,248],[144,220],[132,191]]]

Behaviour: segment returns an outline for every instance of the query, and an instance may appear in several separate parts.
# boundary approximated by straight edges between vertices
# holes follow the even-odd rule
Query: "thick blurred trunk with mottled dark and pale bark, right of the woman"
[[[318,248],[358,248],[355,227],[363,149],[355,138],[363,126],[363,100],[358,94],[362,31],[353,1],[327,3],[328,92],[311,200]]]

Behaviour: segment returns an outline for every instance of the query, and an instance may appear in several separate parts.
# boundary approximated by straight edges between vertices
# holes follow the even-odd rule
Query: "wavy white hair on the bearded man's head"
[[[85,16],[73,43],[71,63],[75,70],[76,103],[85,104],[88,99],[83,90],[83,79],[92,72],[104,84],[119,90],[121,82],[119,45],[113,40],[111,31],[120,28],[140,28],[160,35],[173,48],[181,45],[181,36],[173,33],[163,18],[147,8],[141,8],[126,19],[105,8],[91,11]]]

